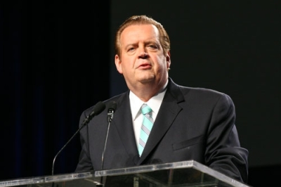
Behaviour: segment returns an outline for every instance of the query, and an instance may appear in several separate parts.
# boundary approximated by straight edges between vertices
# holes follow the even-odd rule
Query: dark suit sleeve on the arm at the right
[[[223,94],[214,106],[207,133],[207,165],[247,183],[248,151],[240,146],[235,127],[235,105],[228,95]]]

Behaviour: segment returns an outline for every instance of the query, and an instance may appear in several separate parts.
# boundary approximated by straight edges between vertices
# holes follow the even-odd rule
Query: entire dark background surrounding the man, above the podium
[[[0,180],[50,175],[81,112],[126,90],[113,38],[133,14],[171,39],[170,77],[228,93],[249,150],[249,185],[281,176],[279,1],[10,1],[0,3]],[[55,161],[73,172],[75,136]]]

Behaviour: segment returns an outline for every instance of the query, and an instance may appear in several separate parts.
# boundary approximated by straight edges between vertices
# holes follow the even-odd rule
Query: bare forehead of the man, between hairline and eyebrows
[[[126,27],[121,34],[121,41],[158,38],[159,31],[157,27],[152,24],[130,25],[129,27]]]

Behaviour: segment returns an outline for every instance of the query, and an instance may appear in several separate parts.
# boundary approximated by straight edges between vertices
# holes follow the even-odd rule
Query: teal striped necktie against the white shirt
[[[143,124],[141,126],[141,135],[138,141],[138,154],[141,156],[145,143],[148,141],[148,136],[153,126],[152,110],[147,104],[141,106],[141,112],[143,113]]]

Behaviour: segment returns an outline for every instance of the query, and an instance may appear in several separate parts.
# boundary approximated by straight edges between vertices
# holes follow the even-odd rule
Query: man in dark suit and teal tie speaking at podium
[[[115,65],[129,91],[104,101],[117,103],[108,136],[107,110],[81,129],[76,171],[195,160],[245,183],[248,151],[240,147],[233,101],[225,93],[173,82],[164,27],[145,15],[132,16],[120,25],[115,50]],[[146,143],[143,104],[152,114],[146,115]],[[81,122],[91,110],[83,112]]]

